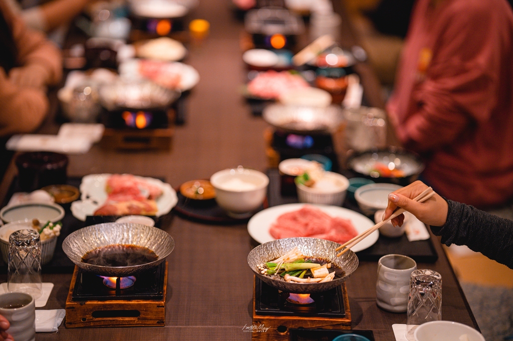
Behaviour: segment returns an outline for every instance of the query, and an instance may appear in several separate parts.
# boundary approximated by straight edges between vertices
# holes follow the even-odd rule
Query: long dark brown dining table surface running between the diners
[[[186,62],[200,74],[200,82],[187,101],[187,121],[177,126],[169,151],[113,151],[93,145],[84,155],[70,155],[68,176],[95,173],[131,173],[163,178],[173,187],[191,179],[209,178],[227,167],[265,171],[266,154],[261,117],[250,114],[239,88],[244,82],[240,37],[243,23],[228,4],[204,0],[192,13],[211,24],[209,36],[189,46]],[[350,24],[343,15],[342,45],[356,45]],[[367,102],[383,106],[379,84],[371,68],[362,63],[361,73]],[[54,96],[51,95],[51,96]],[[40,133],[55,134],[58,103],[53,97],[51,113]],[[0,189],[15,176],[10,165]],[[252,323],[253,273],[247,264],[251,238],[246,224],[210,225],[181,218],[171,212],[161,222],[175,241],[168,257],[168,288],[164,327],[65,328],[57,333],[37,333],[43,340],[243,340],[251,333],[243,327]],[[438,271],[443,278],[442,318],[478,328],[475,318],[449,264],[439,239],[431,236],[438,261],[418,268]],[[352,329],[372,330],[378,341],[393,340],[393,324],[406,323],[405,313],[390,313],[376,305],[377,262],[360,262],[347,281]],[[0,275],[5,282],[7,275]],[[54,284],[47,305],[39,309],[64,309],[71,273],[43,274],[43,282]]]

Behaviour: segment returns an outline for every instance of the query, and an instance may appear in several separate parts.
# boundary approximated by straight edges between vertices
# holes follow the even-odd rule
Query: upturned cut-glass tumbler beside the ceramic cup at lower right
[[[419,269],[411,273],[408,294],[406,338],[415,341],[413,333],[423,323],[442,319],[442,276],[440,273]]]

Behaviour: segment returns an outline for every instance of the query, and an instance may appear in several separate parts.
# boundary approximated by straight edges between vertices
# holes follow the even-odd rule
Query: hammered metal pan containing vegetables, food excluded
[[[276,280],[259,272],[257,268],[259,264],[277,259],[296,246],[306,256],[330,260],[331,263],[344,270],[344,276],[336,277],[333,281],[326,283],[303,284],[287,283],[284,280]],[[358,268],[358,257],[353,251],[349,250],[340,257],[337,257],[337,253],[340,251],[335,251],[335,249],[339,246],[340,244],[338,243],[317,238],[297,237],[273,240],[252,249],[248,254],[248,265],[262,281],[279,290],[293,293],[326,291],[341,285]]]

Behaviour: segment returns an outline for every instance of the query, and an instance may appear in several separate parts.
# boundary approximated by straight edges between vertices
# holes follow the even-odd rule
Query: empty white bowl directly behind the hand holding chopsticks
[[[354,192],[354,199],[365,215],[373,215],[379,209],[385,209],[388,205],[388,195],[402,188],[390,183],[371,183],[362,186]]]

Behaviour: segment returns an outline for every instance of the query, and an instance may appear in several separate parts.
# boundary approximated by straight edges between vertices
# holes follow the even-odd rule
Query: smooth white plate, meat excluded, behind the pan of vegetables
[[[258,212],[248,222],[249,235],[251,236],[251,238],[253,238],[255,241],[261,244],[274,240],[274,238],[269,233],[271,225],[278,219],[279,216],[283,215],[286,212],[301,209],[304,205],[305,204],[285,204],[269,207]],[[350,219],[351,223],[353,224],[354,228],[357,230],[358,233],[362,233],[363,231],[374,225],[372,220],[370,220],[369,218],[347,208],[330,205],[308,205],[321,209],[331,217]],[[365,250],[366,248],[376,243],[378,237],[379,232],[378,230],[376,230],[372,232],[363,241],[361,241],[357,245],[354,245],[351,248],[351,250],[353,252]]]

